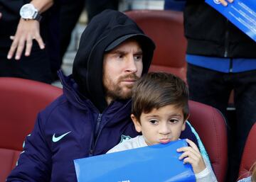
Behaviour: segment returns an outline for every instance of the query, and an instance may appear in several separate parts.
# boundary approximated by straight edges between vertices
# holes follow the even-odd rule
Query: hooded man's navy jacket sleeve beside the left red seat
[[[43,132],[43,124],[38,114],[31,135],[26,137],[16,167],[6,181],[40,182],[50,181],[51,152]]]

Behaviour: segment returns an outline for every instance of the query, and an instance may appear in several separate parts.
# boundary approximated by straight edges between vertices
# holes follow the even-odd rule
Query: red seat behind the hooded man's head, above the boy
[[[125,12],[156,43],[149,72],[170,72],[186,81],[186,38],[180,11],[134,10]]]

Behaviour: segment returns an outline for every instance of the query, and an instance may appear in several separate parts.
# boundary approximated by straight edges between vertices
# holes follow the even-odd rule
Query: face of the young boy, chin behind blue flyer
[[[186,127],[182,108],[175,108],[174,105],[154,108],[150,113],[142,113],[140,123],[134,115],[132,120],[137,132],[142,132],[148,145],[178,140],[181,131]]]

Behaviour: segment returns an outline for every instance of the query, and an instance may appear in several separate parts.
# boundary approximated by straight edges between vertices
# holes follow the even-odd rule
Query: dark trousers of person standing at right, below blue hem
[[[225,116],[230,92],[234,90],[236,118],[228,120],[231,130],[228,130],[227,181],[235,181],[247,135],[256,122],[256,70],[221,73],[188,64],[187,80],[191,100],[218,108]]]

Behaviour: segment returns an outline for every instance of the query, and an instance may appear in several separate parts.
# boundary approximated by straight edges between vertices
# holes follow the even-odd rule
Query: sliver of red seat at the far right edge
[[[256,123],[252,126],[245,142],[239,169],[239,179],[250,176],[252,164],[256,162]]]

